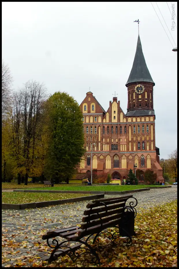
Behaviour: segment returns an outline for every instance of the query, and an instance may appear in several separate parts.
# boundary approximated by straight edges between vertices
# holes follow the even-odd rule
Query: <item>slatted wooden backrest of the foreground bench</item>
[[[131,197],[133,195],[94,200],[88,203],[82,218],[84,223],[81,224],[81,231],[78,235],[86,234],[87,230],[90,234],[90,230],[118,225],[124,213],[126,201]]]

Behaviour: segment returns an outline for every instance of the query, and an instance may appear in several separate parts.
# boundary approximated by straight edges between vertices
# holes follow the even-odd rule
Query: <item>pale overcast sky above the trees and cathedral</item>
[[[156,146],[167,159],[177,148],[177,54],[172,51],[177,29],[171,30],[171,2],[157,2],[161,13],[152,4],[167,34],[150,2],[3,2],[2,58],[13,88],[33,79],[44,82],[48,93],[65,91],[80,104],[90,87],[105,110],[116,91],[126,113],[125,84],[138,37],[133,21],[139,19],[143,54],[155,82]],[[177,16],[177,2],[172,4]]]

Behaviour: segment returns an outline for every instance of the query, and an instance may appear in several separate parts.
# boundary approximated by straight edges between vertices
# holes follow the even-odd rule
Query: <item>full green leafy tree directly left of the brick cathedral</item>
[[[45,162],[47,178],[66,180],[75,172],[84,154],[82,112],[67,93],[56,92],[46,102],[49,118],[49,147]]]

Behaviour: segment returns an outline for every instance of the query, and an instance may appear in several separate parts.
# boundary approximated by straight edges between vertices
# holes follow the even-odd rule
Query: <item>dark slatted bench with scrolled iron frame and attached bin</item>
[[[135,202],[131,201],[129,205],[126,205],[126,201],[129,198],[134,199]],[[85,248],[100,263],[96,250],[88,242],[89,239],[92,239],[90,237],[95,235],[92,244],[100,236],[107,237],[112,243],[115,243],[115,240],[119,237],[126,237],[131,243],[131,237],[136,235],[134,231],[134,221],[137,214],[136,205],[137,199],[133,195],[91,201],[87,204],[87,209],[84,211],[81,227],[72,226],[49,231],[46,235],[42,236],[42,239],[47,239],[48,246],[53,249],[51,256],[47,260],[50,263],[60,255],[67,254],[74,262],[80,256],[75,251],[79,248]],[[118,230],[115,230],[112,234],[107,230],[110,227],[116,227]],[[64,238],[65,241],[58,242],[57,239],[53,239],[52,244],[50,244],[49,239],[57,236]],[[69,242],[77,242],[77,244],[70,246]]]

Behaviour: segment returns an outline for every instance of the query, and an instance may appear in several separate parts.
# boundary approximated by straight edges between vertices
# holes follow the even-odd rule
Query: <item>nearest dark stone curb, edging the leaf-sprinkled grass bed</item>
[[[65,204],[65,203],[75,203],[86,200],[96,200],[100,198],[104,198],[104,194],[96,194],[90,196],[82,196],[77,198],[70,198],[64,200],[53,200],[53,201],[44,201],[44,202],[36,202],[36,203],[27,203],[27,204],[2,204],[2,209],[27,209],[27,208],[40,208],[40,207],[49,207],[51,205]]]

